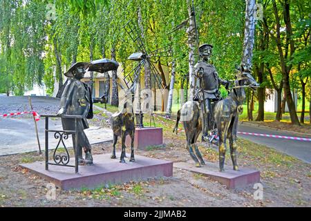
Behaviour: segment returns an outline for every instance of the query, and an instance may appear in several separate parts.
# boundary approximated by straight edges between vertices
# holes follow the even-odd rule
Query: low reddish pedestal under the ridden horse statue
[[[174,163],[174,167],[210,177],[211,180],[220,182],[228,189],[243,188],[261,180],[260,172],[254,169],[240,168],[238,171],[234,171],[231,166],[225,166],[225,172],[219,172],[218,163],[206,161],[205,163],[205,166],[196,167],[194,162],[177,162]]]

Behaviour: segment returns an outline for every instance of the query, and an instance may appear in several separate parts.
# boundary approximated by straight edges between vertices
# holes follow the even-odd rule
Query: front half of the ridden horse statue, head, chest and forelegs
[[[219,168],[225,171],[225,153],[227,150],[226,140],[229,139],[230,155],[232,158],[233,169],[238,170],[236,163],[236,133],[238,128],[238,114],[243,112],[243,102],[245,101],[245,87],[255,90],[259,84],[254,80],[250,72],[241,70],[236,74],[234,87],[229,95],[217,102],[214,107],[214,119],[218,131],[219,148]]]

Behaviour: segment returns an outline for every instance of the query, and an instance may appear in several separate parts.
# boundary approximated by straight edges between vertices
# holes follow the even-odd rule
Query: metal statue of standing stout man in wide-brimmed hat
[[[71,77],[65,86],[62,94],[59,112],[57,115],[84,115],[83,119],[77,119],[77,135],[73,136],[73,146],[77,147],[79,164],[92,165],[93,157],[91,155],[91,144],[84,133],[88,128],[86,119],[93,118],[93,100],[91,88],[84,84],[80,79],[84,77],[86,68],[90,66],[88,62],[77,62],[64,73],[66,77]],[[65,131],[75,131],[75,119],[62,118],[62,125]],[[75,145],[75,136],[77,136],[77,145]],[[85,160],[82,157],[82,148],[85,153]]]

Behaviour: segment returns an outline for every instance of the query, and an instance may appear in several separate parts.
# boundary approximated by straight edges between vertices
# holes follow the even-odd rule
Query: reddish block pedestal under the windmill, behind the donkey
[[[131,137],[126,136],[126,147],[131,147]],[[135,128],[134,147],[144,150],[147,146],[159,146],[163,144],[162,128],[144,127]]]

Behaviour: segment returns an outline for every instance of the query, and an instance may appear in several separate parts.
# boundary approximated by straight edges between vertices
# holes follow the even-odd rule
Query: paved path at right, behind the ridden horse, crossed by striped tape
[[[284,131],[276,131],[270,128],[263,128],[257,126],[250,126],[248,124],[239,124],[238,131],[247,133],[264,133],[271,135],[285,135],[292,137],[308,137],[306,135],[295,135],[294,133],[288,133]],[[244,139],[250,140],[256,144],[263,144],[265,146],[272,147],[288,155],[292,155],[303,162],[311,164],[311,142],[297,141],[297,140],[285,140],[273,137],[258,137],[253,135],[241,135]]]

